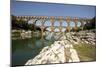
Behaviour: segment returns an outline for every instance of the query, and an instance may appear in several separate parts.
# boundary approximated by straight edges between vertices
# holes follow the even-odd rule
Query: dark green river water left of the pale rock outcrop
[[[38,55],[43,47],[52,43],[40,37],[12,40],[12,65],[24,65]]]

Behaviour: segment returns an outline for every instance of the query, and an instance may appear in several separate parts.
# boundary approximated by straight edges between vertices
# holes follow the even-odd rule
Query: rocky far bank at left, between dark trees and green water
[[[40,37],[40,31],[31,31],[31,30],[12,30],[12,39],[27,39],[32,37]]]

